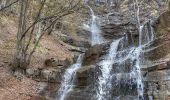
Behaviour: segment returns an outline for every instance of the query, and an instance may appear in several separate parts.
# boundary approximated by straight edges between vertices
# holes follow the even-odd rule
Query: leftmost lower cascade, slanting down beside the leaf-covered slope
[[[76,63],[71,65],[64,73],[63,81],[61,82],[60,89],[58,91],[58,97],[56,100],[64,100],[67,94],[72,91],[76,72],[81,68],[83,54],[80,54]]]

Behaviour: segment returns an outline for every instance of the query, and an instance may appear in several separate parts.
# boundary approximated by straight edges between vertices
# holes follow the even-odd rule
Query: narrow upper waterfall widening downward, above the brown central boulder
[[[91,32],[91,45],[95,45],[95,44],[101,44],[104,42],[103,37],[101,36],[101,30],[100,30],[100,26],[98,25],[97,22],[97,17],[94,14],[93,9],[88,6],[88,8],[90,9],[91,12],[91,24],[90,24],[90,32]]]

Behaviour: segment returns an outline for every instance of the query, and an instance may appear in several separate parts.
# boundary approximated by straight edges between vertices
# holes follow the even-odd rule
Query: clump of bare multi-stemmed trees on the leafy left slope
[[[38,1],[37,7],[38,10],[35,14],[34,21],[31,24],[28,24],[28,10],[30,7],[30,0],[20,0],[20,16],[19,16],[19,25],[18,25],[18,33],[17,33],[17,46],[16,46],[16,54],[14,57],[14,69],[26,69],[29,66],[33,53],[36,50],[37,45],[40,42],[42,36],[47,32],[47,30],[53,28],[54,24],[64,16],[74,13],[76,10],[79,10],[80,1],[75,2],[74,0],[67,0],[67,5],[62,5],[62,7],[57,8],[54,12],[50,12],[47,16],[41,16],[42,13],[47,13],[48,8],[50,6],[46,0]],[[54,1],[55,2],[55,1]],[[53,3],[54,3],[53,2]],[[58,3],[58,2],[57,2]],[[46,7],[46,8],[45,8]],[[41,28],[42,22],[50,22],[45,24],[43,28]],[[39,31],[36,35],[34,33],[35,27],[39,27]],[[34,41],[34,44],[33,44]],[[33,46],[31,46],[33,44]]]

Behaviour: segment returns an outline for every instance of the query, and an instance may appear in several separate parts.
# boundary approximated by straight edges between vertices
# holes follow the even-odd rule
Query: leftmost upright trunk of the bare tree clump
[[[17,51],[14,59],[14,67],[15,68],[25,68],[26,64],[26,54],[24,52],[25,48],[25,37],[23,39],[22,35],[26,30],[26,14],[28,8],[28,0],[20,0],[20,17],[19,17],[19,25],[18,25],[18,33],[17,33]]]

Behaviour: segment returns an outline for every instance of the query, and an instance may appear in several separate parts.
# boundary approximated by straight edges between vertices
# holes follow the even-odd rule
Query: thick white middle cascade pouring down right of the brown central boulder
[[[118,39],[111,43],[109,53],[104,57],[104,60],[99,63],[102,75],[98,78],[97,100],[105,100],[106,97],[110,95],[109,90],[112,88],[111,70],[120,40],[121,39]]]

